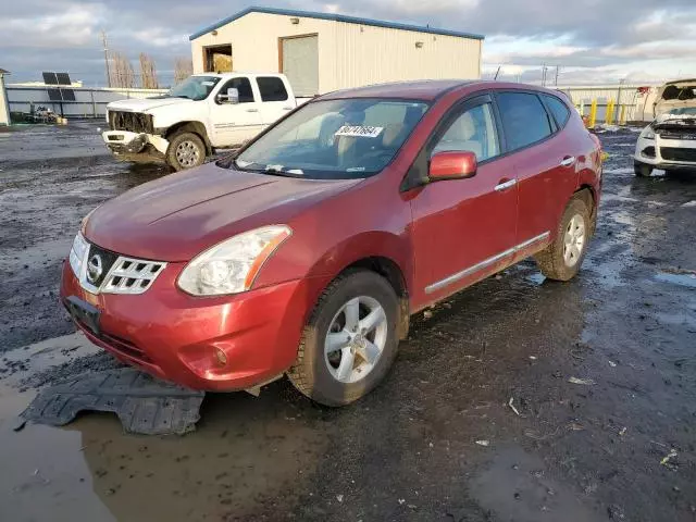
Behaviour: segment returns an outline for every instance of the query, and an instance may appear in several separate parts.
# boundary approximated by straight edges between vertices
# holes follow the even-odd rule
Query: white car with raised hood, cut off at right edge
[[[643,129],[635,146],[636,176],[654,169],[696,171],[696,108],[672,109]]]

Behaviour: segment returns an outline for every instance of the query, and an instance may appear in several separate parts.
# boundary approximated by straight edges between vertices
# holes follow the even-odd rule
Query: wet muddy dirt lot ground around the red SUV
[[[581,276],[527,262],[415,318],[352,407],[279,381],[209,395],[185,437],[109,414],[15,433],[40,386],[113,365],[57,302],[80,217],[165,175],[96,127],[0,133],[0,520],[696,521],[696,176],[635,178],[630,129],[600,134]]]

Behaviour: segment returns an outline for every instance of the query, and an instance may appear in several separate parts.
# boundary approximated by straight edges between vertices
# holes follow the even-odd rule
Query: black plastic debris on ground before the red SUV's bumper
[[[121,368],[83,374],[44,389],[22,417],[62,426],[80,411],[109,411],[119,415],[126,433],[183,435],[196,430],[204,395]]]

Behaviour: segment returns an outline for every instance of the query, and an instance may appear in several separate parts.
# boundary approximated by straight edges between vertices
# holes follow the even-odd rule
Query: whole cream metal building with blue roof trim
[[[484,37],[331,13],[249,8],[191,35],[194,72],[281,72],[296,95],[481,77]]]

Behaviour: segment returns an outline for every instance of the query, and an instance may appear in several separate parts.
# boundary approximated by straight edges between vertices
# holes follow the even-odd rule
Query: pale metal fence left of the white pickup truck
[[[65,117],[104,117],[107,104],[126,98],[150,98],[164,89],[71,88],[75,101],[52,101],[44,86],[8,85],[7,96],[11,113],[30,113],[38,107],[47,107]]]

